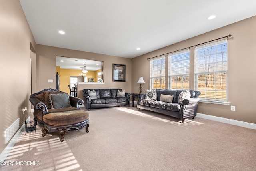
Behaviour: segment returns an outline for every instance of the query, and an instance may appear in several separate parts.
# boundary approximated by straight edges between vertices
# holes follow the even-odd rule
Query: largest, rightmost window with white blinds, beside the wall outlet
[[[195,48],[195,89],[200,99],[227,101],[227,40]]]

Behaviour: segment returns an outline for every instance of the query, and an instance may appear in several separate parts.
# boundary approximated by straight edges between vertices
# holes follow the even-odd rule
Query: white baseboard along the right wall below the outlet
[[[202,113],[197,113],[196,117],[209,119],[209,120],[212,120],[212,121],[218,121],[218,122],[222,122],[222,123],[228,123],[230,125],[236,125],[236,126],[246,127],[246,128],[250,128],[250,129],[256,129],[256,124],[254,124],[254,123],[237,121],[237,120],[233,120],[233,119],[227,119],[227,118],[224,118],[224,117],[205,115],[205,114],[202,114]]]

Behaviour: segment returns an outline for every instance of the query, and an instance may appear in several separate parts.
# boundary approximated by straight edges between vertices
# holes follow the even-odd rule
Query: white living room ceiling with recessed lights
[[[37,44],[134,58],[256,15],[256,0],[20,0]],[[208,16],[216,15],[213,20]],[[59,34],[63,30],[65,34]],[[232,34],[227,32],[225,35]],[[141,48],[136,50],[136,48]]]

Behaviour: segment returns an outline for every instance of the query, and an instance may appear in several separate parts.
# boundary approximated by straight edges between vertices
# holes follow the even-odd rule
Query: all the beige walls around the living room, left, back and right
[[[30,105],[30,86],[32,93],[56,87],[56,56],[104,61],[105,84],[81,85],[78,87],[80,98],[82,89],[87,88],[122,88],[126,92],[138,92],[139,84],[136,82],[140,76],[146,82],[143,91],[150,89],[150,61],[147,58],[228,34],[232,34],[228,40],[228,101],[230,105],[236,106],[236,111],[230,111],[230,105],[200,103],[198,112],[256,123],[253,107],[256,102],[256,16],[133,59],[36,45],[19,0],[0,1],[0,26],[0,152],[6,147],[5,130],[18,118],[21,126],[25,117],[28,117],[28,111],[22,114],[22,109]],[[194,52],[191,51],[190,55],[190,89],[194,89]],[[113,63],[126,65],[126,82],[112,81]],[[53,83],[48,83],[48,79],[52,79]]]

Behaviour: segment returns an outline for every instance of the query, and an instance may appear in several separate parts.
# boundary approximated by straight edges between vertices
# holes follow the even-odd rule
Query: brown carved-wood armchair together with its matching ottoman
[[[42,136],[48,132],[59,132],[64,141],[64,134],[68,131],[78,131],[83,127],[88,133],[89,114],[82,111],[79,105],[84,101],[57,89],[44,89],[30,95],[30,102],[34,106],[35,125],[42,125]]]

